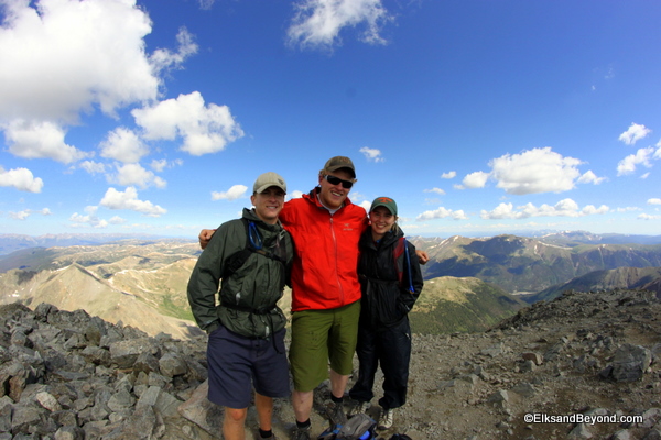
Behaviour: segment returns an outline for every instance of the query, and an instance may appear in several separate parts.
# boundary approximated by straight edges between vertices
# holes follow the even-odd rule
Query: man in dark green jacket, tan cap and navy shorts
[[[218,228],[188,280],[193,316],[209,336],[208,398],[225,407],[227,440],[245,439],[252,388],[262,439],[274,439],[273,398],[290,395],[285,317],[277,305],[293,258],[278,219],[285,194],[281,176],[260,175],[250,197],[254,208]]]

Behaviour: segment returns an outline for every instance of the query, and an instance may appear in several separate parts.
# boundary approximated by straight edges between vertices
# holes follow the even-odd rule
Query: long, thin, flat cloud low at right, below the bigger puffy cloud
[[[602,205],[596,208],[594,205],[586,205],[583,208],[578,207],[572,199],[560,200],[554,206],[546,204],[535,207],[532,204],[525,204],[514,209],[513,205],[500,204],[494,210],[480,212],[480,217],[485,220],[494,219],[525,219],[529,217],[585,217],[598,213],[606,213],[609,208]]]

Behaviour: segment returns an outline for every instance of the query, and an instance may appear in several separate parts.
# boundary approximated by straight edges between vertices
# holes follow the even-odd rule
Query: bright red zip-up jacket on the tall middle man
[[[335,309],[360,299],[358,242],[367,213],[347,198],[330,216],[316,193],[288,201],[279,216],[294,241],[292,311]]]

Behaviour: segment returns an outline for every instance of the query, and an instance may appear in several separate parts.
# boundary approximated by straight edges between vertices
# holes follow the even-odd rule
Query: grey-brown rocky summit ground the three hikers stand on
[[[651,292],[567,292],[486,332],[414,334],[409,402],[379,436],[661,439],[659,317]],[[204,336],[149,337],[83,310],[1,306],[0,440],[220,438],[205,353]],[[328,427],[327,385],[315,391],[313,438]],[[248,439],[256,420],[251,408]],[[293,421],[290,402],[277,400],[275,436],[290,438]]]

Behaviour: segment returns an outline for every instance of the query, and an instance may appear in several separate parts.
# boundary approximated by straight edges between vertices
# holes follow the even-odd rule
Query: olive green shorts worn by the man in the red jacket
[[[329,310],[292,314],[290,367],[294,389],[311,392],[335,373],[348,376],[354,369],[360,301]]]

